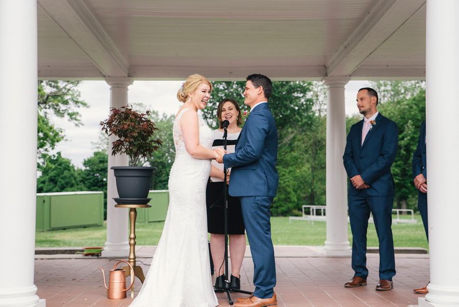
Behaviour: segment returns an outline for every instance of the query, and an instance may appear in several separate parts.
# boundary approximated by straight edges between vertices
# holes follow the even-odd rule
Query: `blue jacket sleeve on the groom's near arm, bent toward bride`
[[[245,146],[233,154],[225,154],[223,162],[225,167],[237,167],[250,164],[258,160],[263,153],[265,139],[268,135],[268,119],[263,112],[250,114],[250,120],[246,122]]]

